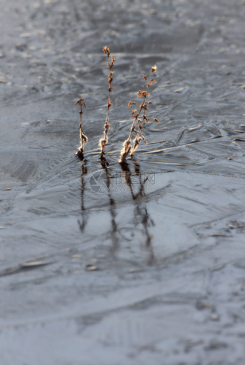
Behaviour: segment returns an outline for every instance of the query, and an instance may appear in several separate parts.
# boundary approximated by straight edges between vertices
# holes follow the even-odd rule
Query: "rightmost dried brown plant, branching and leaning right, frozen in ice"
[[[141,91],[141,90],[138,91],[137,96],[138,97],[142,96],[142,103],[139,106],[139,111],[137,111],[137,109],[133,110],[133,108],[132,108],[132,105],[137,105],[137,103],[132,103],[131,100],[129,101],[129,108],[131,108],[131,110],[132,110],[132,118],[134,118],[134,121],[133,121],[132,127],[130,129],[129,138],[126,139],[126,141],[124,141],[124,143],[123,143],[123,149],[121,151],[120,162],[125,162],[126,161],[126,157],[127,157],[127,155],[129,154],[130,151],[131,151],[131,153],[130,153],[131,156],[133,155],[133,153],[134,153],[135,149],[137,148],[137,146],[139,145],[139,142],[141,141],[141,139],[143,139],[143,141],[147,144],[145,138],[141,134],[141,129],[143,128],[143,124],[145,122],[148,123],[148,119],[153,119],[157,123],[159,123],[159,121],[156,118],[147,117],[145,115],[146,110],[148,110],[148,106],[150,104],[152,104],[152,101],[148,101],[148,103],[145,103],[145,100],[146,100],[147,96],[150,96],[150,94],[148,93],[150,85],[152,84],[152,82],[156,83],[156,80],[154,80],[152,78],[152,74],[153,74],[153,72],[156,72],[156,69],[157,69],[156,65],[152,67],[152,73],[150,75],[150,82],[148,82],[146,76],[144,74],[142,74],[143,78],[146,81],[147,88],[146,88],[145,91]],[[139,115],[140,115],[142,110],[143,110],[143,115],[142,115],[142,120],[141,120],[141,119],[139,119]],[[136,120],[138,122],[139,130],[135,129]],[[130,143],[131,143],[131,137],[132,137],[133,132],[137,133],[137,135],[134,139],[134,146],[132,148]]]

